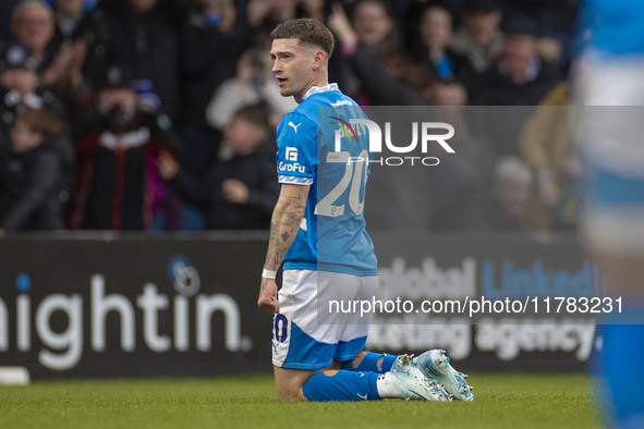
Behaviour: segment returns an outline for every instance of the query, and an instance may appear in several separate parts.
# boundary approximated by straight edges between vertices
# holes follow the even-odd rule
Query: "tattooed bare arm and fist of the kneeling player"
[[[304,217],[308,188],[309,186],[282,184],[280,197],[272,211],[265,270],[277,271],[293,244]],[[275,279],[262,278],[257,305],[271,315],[279,312]]]

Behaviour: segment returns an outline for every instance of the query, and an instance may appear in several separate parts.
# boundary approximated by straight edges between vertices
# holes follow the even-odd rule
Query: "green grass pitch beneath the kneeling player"
[[[282,404],[268,376],[0,385],[0,428],[598,428],[585,376],[471,375],[474,403]]]

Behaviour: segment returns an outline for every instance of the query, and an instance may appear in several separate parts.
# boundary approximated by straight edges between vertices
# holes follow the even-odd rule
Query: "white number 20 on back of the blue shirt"
[[[338,151],[327,154],[327,162],[344,163],[345,170],[340,182],[315,206],[315,214],[337,218],[344,214],[344,205],[335,206],[333,204],[349,188],[349,207],[355,214],[362,214],[364,209],[364,197],[360,200],[360,189],[367,180],[366,163],[368,152],[363,149],[357,158],[351,158],[348,151]]]

